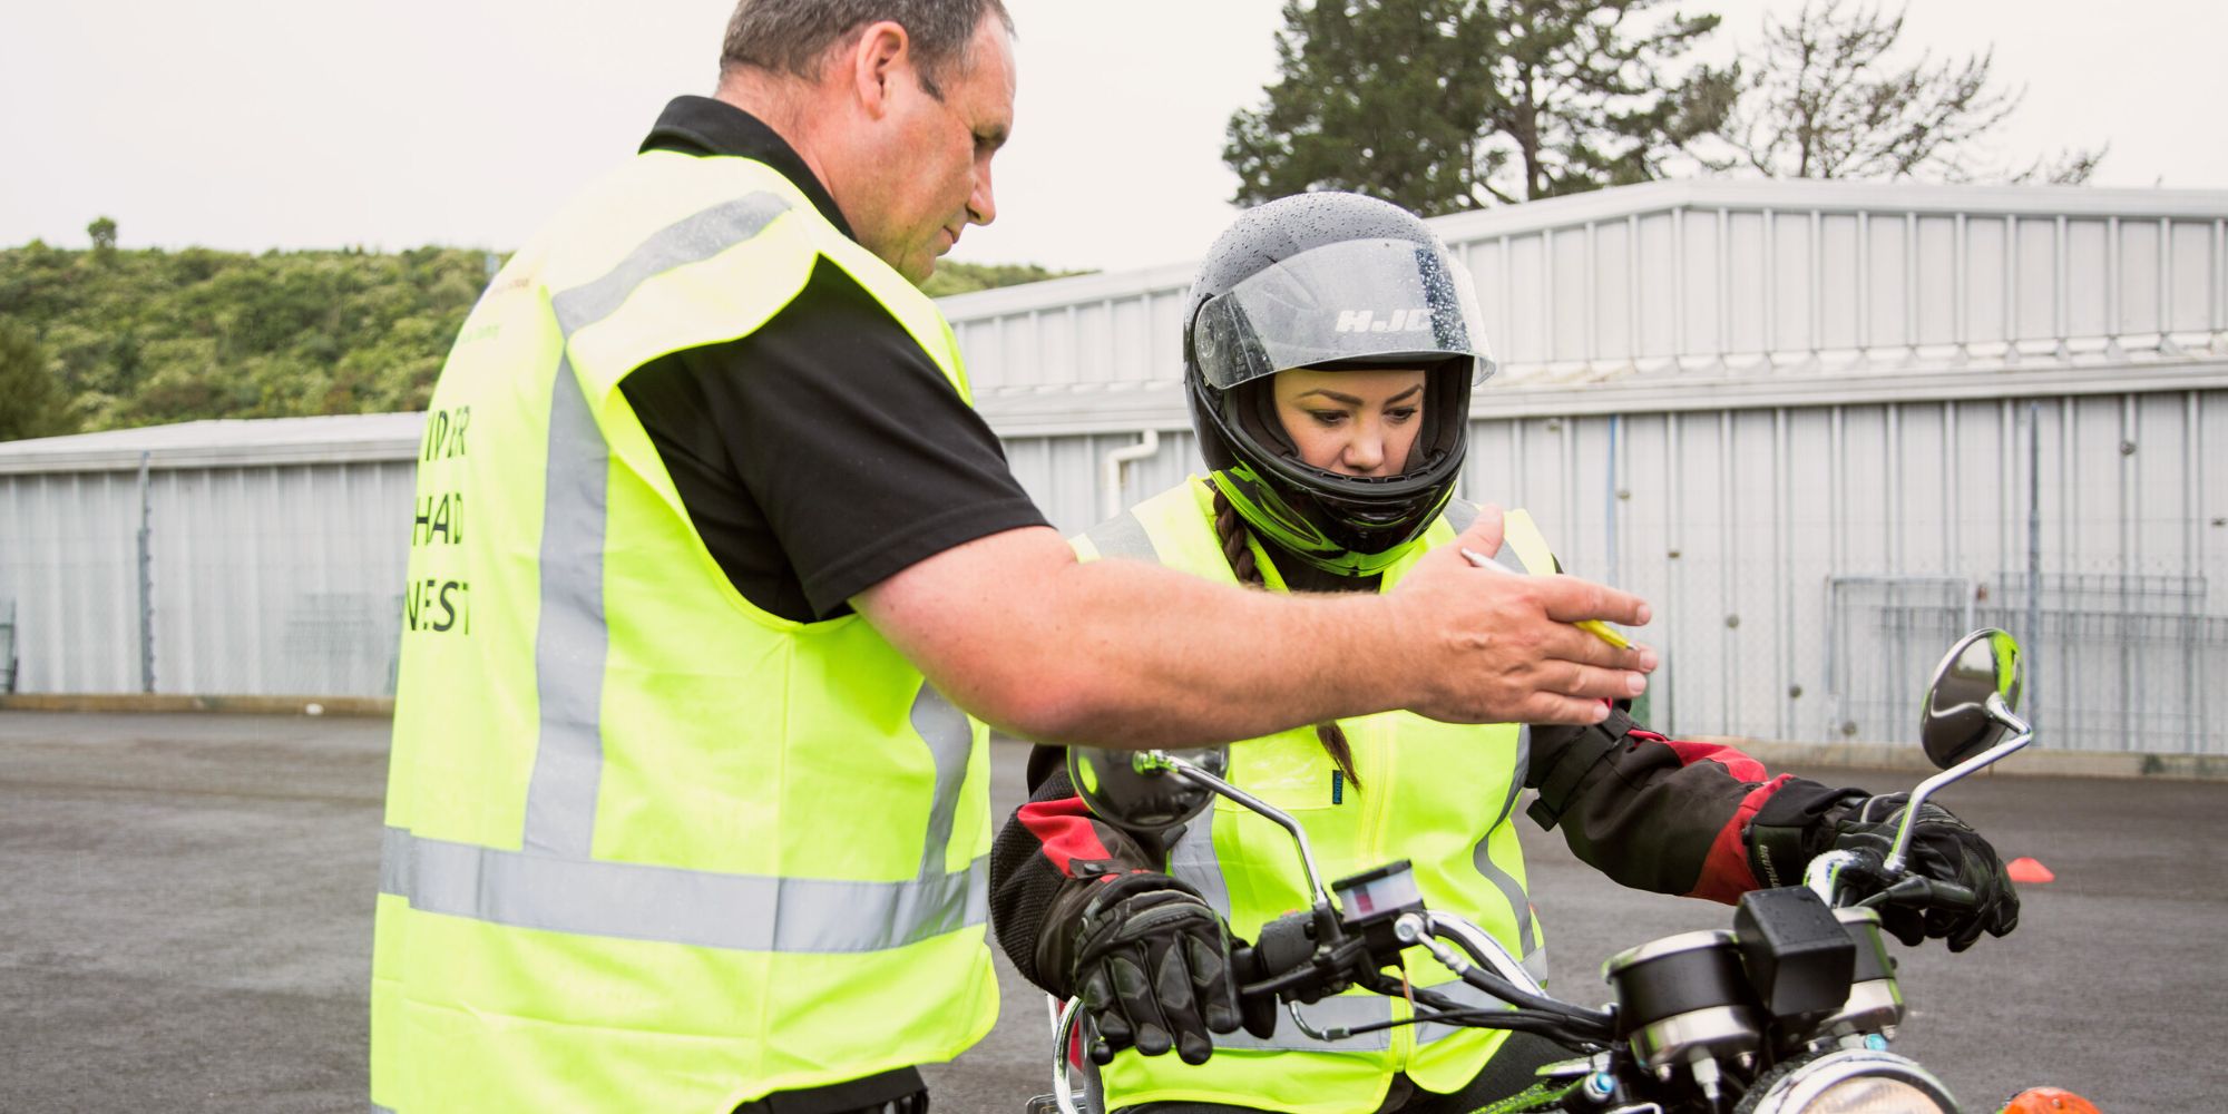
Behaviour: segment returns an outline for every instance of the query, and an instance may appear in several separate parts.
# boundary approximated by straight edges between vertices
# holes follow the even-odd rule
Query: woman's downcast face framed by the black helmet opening
[[[1299,446],[1299,459],[1348,477],[1393,477],[1424,428],[1424,377],[1372,368],[1277,372],[1277,419]]]

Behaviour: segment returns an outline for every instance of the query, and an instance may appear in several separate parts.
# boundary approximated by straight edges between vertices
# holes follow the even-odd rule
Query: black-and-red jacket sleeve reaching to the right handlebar
[[[1791,885],[1802,862],[1773,847],[1776,820],[1802,827],[1858,789],[1778,775],[1720,742],[1689,742],[1635,724],[1624,709],[1593,726],[1533,726],[1524,775],[1528,815],[1562,829],[1580,860],[1633,889],[1736,902]],[[1765,818],[1760,827],[1758,818]],[[1782,820],[1785,818],[1785,820]],[[1751,831],[1762,853],[1751,847]],[[1807,856],[1805,856],[1807,860]]]

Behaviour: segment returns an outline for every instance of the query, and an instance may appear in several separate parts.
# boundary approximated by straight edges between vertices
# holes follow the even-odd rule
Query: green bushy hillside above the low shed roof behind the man
[[[929,292],[1054,276],[951,263]],[[67,421],[89,430],[423,410],[486,283],[488,254],[461,247],[247,256],[31,243],[0,250],[0,321],[38,336],[33,363],[58,383]],[[33,392],[9,390],[11,412],[29,412]]]

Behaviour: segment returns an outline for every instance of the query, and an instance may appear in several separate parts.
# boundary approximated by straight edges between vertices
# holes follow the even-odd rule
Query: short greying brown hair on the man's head
[[[940,82],[967,74],[967,47],[991,13],[1014,33],[1003,0],[742,0],[726,22],[720,69],[753,67],[813,80],[829,47],[891,20],[911,38],[920,87],[942,100]]]

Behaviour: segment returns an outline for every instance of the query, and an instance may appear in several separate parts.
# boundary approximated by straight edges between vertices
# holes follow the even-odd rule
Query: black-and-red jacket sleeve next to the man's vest
[[[989,853],[991,925],[1023,978],[1067,996],[1074,991],[1067,987],[1072,929],[1094,896],[1094,880],[1159,871],[1167,849],[1094,818],[1067,780],[1061,746],[1034,746],[1027,778],[1029,802],[998,829]]]

